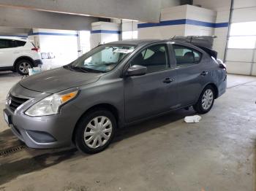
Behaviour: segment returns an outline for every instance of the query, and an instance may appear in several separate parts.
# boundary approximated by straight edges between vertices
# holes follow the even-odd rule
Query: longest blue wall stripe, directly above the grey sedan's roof
[[[191,19],[178,19],[178,20],[165,20],[160,21],[160,23],[140,23],[138,28],[147,28],[155,26],[176,26],[176,25],[192,25],[192,26],[205,26],[211,28],[227,27],[228,23],[208,23],[200,20]]]

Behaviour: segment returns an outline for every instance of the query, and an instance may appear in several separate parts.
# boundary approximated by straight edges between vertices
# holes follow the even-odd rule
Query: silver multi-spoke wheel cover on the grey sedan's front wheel
[[[92,149],[104,146],[112,133],[112,122],[108,117],[94,117],[85,128],[83,133],[86,145]]]

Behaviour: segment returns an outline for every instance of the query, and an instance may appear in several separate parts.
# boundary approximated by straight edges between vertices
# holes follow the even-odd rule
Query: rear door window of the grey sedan
[[[189,47],[173,44],[177,66],[187,66],[199,63],[202,53]]]

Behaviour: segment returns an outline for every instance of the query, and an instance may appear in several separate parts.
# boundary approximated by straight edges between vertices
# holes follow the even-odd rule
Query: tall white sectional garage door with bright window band
[[[256,76],[256,1],[234,0],[226,59],[231,74]]]

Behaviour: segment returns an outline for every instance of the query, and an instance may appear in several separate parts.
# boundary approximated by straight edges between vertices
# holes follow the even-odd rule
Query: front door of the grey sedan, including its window
[[[151,44],[129,62],[146,66],[145,75],[124,78],[125,119],[127,122],[170,110],[175,104],[176,69],[170,68],[167,43]]]

